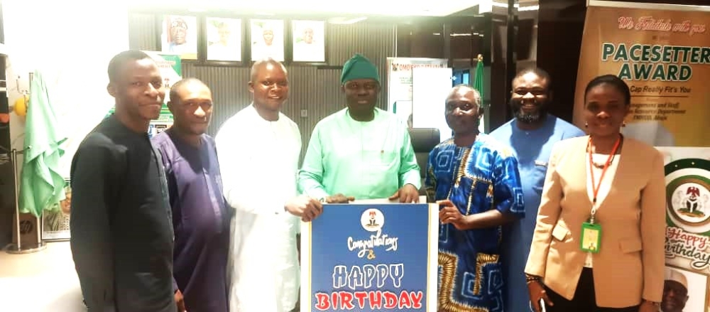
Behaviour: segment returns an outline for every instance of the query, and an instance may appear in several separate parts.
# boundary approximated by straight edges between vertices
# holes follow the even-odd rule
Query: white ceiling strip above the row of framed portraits
[[[225,14],[327,16],[447,16],[481,0],[127,0],[133,9],[222,11]],[[483,0],[485,1],[485,0]]]

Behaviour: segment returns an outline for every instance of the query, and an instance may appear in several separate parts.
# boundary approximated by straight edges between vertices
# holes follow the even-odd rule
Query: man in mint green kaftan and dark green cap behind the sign
[[[326,203],[389,198],[418,203],[421,186],[407,125],[376,107],[376,66],[356,54],[343,66],[347,107],[325,117],[310,138],[298,188]]]

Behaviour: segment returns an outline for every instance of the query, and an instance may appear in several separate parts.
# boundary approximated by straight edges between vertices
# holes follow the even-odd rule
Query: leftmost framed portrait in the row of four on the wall
[[[163,16],[160,50],[180,55],[183,60],[197,60],[197,17]]]

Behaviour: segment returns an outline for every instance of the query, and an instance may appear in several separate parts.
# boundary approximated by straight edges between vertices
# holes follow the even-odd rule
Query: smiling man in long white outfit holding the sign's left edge
[[[296,124],[280,113],[288,76],[273,59],[251,68],[253,102],[227,120],[215,141],[224,159],[224,197],[236,210],[229,267],[232,312],[288,312],[298,299],[299,218],[322,212],[318,200],[297,196],[301,149]]]

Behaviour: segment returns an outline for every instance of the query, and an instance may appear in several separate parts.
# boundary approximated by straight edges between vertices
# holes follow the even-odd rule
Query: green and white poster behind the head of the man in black
[[[155,63],[158,63],[158,68],[160,68],[160,75],[163,76],[163,85],[165,85],[165,103],[163,103],[163,108],[160,109],[160,117],[153,120],[151,125],[148,127],[148,136],[153,137],[155,134],[165,131],[173,125],[173,114],[170,114],[168,110],[168,100],[170,100],[170,86],[174,85],[175,82],[182,80],[182,64],[180,63],[180,55],[176,54],[165,54],[153,51],[143,51],[150,55]],[[112,107],[109,110],[107,117],[114,113],[115,108]]]

